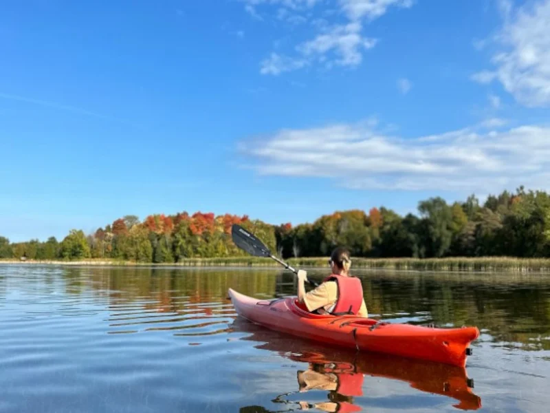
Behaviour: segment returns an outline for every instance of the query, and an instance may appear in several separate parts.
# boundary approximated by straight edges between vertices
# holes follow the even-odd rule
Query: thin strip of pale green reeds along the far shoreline
[[[171,264],[136,263],[120,260],[80,260],[80,261],[40,261],[0,260],[0,264],[42,264],[67,266],[254,266],[278,267],[270,258],[226,257],[226,258],[190,258]],[[295,268],[328,268],[326,257],[293,258],[288,263]],[[550,271],[550,259],[514,258],[514,257],[450,257],[450,258],[355,258],[352,268],[412,270],[412,271]]]

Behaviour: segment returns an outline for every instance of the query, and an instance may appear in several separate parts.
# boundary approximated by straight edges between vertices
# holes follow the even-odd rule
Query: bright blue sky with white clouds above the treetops
[[[0,6],[0,235],[550,187],[550,0]]]

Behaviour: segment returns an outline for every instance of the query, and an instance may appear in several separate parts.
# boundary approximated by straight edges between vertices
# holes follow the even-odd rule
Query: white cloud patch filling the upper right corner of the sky
[[[499,81],[527,107],[550,105],[550,0],[514,8],[507,0],[498,3],[503,28],[495,40],[498,50],[492,56],[495,66],[472,78],[479,83]]]

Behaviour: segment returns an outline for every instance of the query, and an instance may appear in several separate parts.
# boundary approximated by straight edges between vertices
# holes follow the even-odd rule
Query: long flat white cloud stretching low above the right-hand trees
[[[262,175],[318,177],[354,189],[495,191],[550,188],[550,127],[497,131],[506,120],[404,139],[373,123],[285,129],[241,145]]]

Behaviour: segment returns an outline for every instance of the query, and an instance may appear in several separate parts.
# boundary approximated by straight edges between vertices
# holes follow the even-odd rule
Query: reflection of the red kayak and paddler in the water
[[[481,407],[481,399],[472,392],[473,380],[467,377],[465,368],[389,354],[329,348],[267,330],[240,317],[232,324],[232,330],[245,333],[241,340],[257,341],[255,348],[276,352],[285,359],[299,363],[308,363],[307,369],[296,371],[297,390],[274,395],[272,399],[272,403],[283,404],[287,408],[270,410],[252,405],[241,407],[241,413],[309,409],[359,412],[362,407],[355,399],[369,396],[369,390],[364,390],[365,375],[404,381],[420,392],[447,396],[457,401],[453,402],[453,407],[460,410],[478,410]],[[304,394],[313,390],[326,391],[327,400],[307,401]]]

